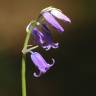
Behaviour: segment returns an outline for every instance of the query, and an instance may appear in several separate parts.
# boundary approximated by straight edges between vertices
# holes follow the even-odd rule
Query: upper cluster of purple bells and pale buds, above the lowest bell
[[[63,14],[60,9],[54,7],[47,7],[43,9],[40,12],[40,16],[42,16],[42,18],[45,18],[45,20],[54,28],[56,28],[59,32],[64,32],[64,28],[59,24],[56,18],[66,22],[71,22],[71,20],[65,14]],[[48,25],[46,23],[43,24],[43,22],[41,22],[41,18],[38,20],[39,21],[37,22],[37,26],[34,29],[32,29],[31,24],[29,24],[27,27],[27,30],[32,29],[31,31],[34,38],[34,42],[46,51],[50,50],[51,48],[58,48],[59,43],[53,42],[51,31],[48,28]],[[38,29],[38,26],[41,26],[41,31]]]

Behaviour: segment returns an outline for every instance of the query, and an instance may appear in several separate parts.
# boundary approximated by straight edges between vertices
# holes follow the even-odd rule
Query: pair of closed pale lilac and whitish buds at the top
[[[63,32],[64,29],[55,18],[58,18],[66,22],[71,22],[71,20],[65,14],[63,14],[60,9],[54,7],[48,7],[43,9],[41,11],[41,14],[44,16],[45,20],[49,24],[51,24],[54,28],[56,28],[60,32]]]

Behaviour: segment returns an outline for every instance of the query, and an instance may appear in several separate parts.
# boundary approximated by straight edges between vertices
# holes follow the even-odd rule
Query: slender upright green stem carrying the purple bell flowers
[[[34,28],[36,26],[36,21],[32,21],[31,24],[32,24],[32,28]],[[27,45],[30,39],[30,35],[31,35],[31,31],[27,32],[23,50],[27,50]],[[23,50],[22,50],[22,53],[23,53]],[[26,54],[22,54],[22,71],[21,71],[22,96],[26,96],[26,62],[25,61],[26,61]]]

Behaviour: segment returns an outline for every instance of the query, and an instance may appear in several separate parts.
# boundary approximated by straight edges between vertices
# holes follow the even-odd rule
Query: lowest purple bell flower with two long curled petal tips
[[[39,74],[36,72],[33,73],[35,77],[40,77],[42,74],[45,74],[55,63],[55,60],[52,58],[52,64],[48,64],[38,52],[32,52],[31,59],[39,70]]]

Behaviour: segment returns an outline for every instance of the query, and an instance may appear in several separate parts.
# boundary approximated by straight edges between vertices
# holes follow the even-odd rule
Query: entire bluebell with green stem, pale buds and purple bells
[[[71,20],[62,13],[60,9],[54,8],[52,6],[47,7],[41,10],[39,17],[35,21],[31,21],[26,27],[26,38],[24,41],[22,49],[22,69],[21,69],[21,80],[22,80],[22,96],[26,95],[26,54],[31,53],[31,60],[34,65],[38,68],[39,73],[34,72],[34,77],[40,77],[42,74],[45,74],[55,63],[55,60],[52,58],[52,64],[47,63],[42,55],[38,52],[33,52],[33,49],[41,46],[45,51],[49,51],[51,48],[59,48],[59,43],[54,43],[51,36],[51,31],[48,28],[48,25],[51,25],[58,32],[64,32],[64,28],[56,20],[63,20],[64,22],[71,23]],[[39,29],[41,28],[41,31]],[[28,45],[29,39],[33,35],[35,45]]]

